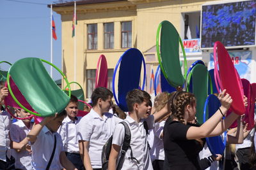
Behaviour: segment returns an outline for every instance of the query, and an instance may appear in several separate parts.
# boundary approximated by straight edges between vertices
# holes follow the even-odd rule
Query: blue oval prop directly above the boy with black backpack
[[[113,96],[115,98],[116,104],[123,110],[128,111],[125,97],[127,92],[138,89],[140,85],[140,76],[141,76],[141,63],[143,63],[143,84],[141,90],[145,87],[146,82],[146,64],[144,57],[140,50],[136,48],[130,48],[126,50],[124,54],[118,60],[114,73],[113,73]],[[119,68],[118,75],[118,97],[115,93],[115,77],[116,71]]]

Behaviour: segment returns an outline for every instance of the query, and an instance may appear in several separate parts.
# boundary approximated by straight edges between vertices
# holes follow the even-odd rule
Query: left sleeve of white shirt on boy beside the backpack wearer
[[[93,123],[82,118],[79,122],[79,125],[77,126],[77,139],[83,141],[90,141],[92,132]]]

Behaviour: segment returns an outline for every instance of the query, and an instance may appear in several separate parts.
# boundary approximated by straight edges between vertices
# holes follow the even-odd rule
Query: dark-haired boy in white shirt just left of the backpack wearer
[[[113,134],[115,125],[122,121],[108,113],[112,97],[112,92],[104,87],[93,90],[93,108],[77,125],[79,152],[86,170],[101,169],[102,147]]]

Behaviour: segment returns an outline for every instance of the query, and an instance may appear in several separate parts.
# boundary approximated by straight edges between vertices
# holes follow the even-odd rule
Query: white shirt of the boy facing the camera
[[[80,120],[81,117],[77,117],[77,119],[73,121],[67,116],[64,118],[60,128],[57,131],[61,136],[65,152],[79,153],[77,124]]]

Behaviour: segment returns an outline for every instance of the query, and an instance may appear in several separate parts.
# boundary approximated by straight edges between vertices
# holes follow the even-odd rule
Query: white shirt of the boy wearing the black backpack
[[[124,120],[131,131],[131,143],[127,152],[125,153],[124,163],[122,165],[122,170],[125,169],[140,169],[140,170],[151,170],[152,162],[149,155],[148,141],[147,141],[147,132],[143,125],[143,122],[146,121],[148,129],[154,128],[154,115],[150,115],[147,119],[141,119],[140,123],[135,122],[131,117],[127,116]],[[115,132],[113,134],[112,144],[121,146],[124,143],[125,129],[124,125],[116,125]],[[131,157],[131,150],[133,157],[135,159],[129,159]],[[120,154],[118,160],[120,159]],[[117,163],[118,164],[118,163]],[[116,164],[116,166],[117,166]]]

